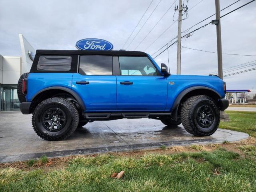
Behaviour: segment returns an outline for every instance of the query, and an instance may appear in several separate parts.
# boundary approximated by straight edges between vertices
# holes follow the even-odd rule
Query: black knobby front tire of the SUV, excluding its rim
[[[209,106],[212,110],[212,124],[204,128],[198,123],[196,114],[200,107]],[[216,132],[220,124],[220,112],[214,100],[209,96],[199,95],[188,98],[181,108],[182,125],[187,132],[195,136],[210,136]]]

